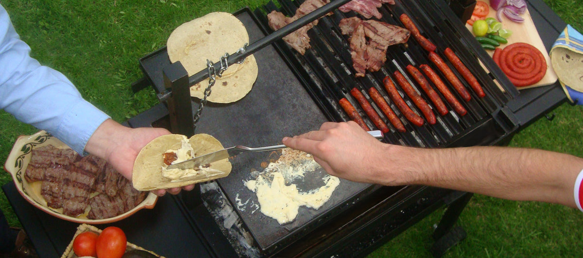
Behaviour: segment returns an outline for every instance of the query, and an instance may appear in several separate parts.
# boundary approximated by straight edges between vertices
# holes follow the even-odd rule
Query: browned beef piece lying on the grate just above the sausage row
[[[340,20],[342,34],[350,36],[350,55],[356,77],[378,71],[387,61],[387,47],[406,43],[410,32],[402,27],[356,17]]]

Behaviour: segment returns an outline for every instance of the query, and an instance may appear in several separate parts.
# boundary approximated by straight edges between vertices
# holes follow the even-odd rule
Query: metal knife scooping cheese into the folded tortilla
[[[368,131],[367,133],[373,135],[373,137],[377,138],[378,140],[382,139],[382,132],[379,130]],[[221,149],[220,151],[210,152],[209,154],[205,154],[192,159],[188,159],[186,161],[175,163],[173,165],[168,166],[166,169],[194,169],[198,168],[201,165],[212,163],[215,161],[220,161],[221,159],[227,159],[237,154],[241,154],[243,152],[273,151],[275,149],[283,149],[286,147],[287,146],[283,144],[258,148],[250,148],[243,145],[236,145],[230,148]]]

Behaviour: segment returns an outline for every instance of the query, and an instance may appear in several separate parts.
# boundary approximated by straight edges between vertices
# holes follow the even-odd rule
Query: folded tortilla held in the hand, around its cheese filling
[[[157,137],[142,148],[134,162],[134,170],[132,171],[134,188],[140,191],[169,189],[229,175],[231,163],[229,159],[223,159],[210,163],[208,167],[201,166],[199,170],[172,169],[176,172],[173,176],[164,176],[164,172],[170,170],[166,170],[167,165],[164,164],[163,154],[168,150],[180,149],[183,140],[187,145],[189,144],[189,147],[192,147],[192,152],[194,152],[194,154],[191,153],[192,156],[201,156],[223,149],[223,145],[208,134],[195,134],[190,139],[180,134]]]

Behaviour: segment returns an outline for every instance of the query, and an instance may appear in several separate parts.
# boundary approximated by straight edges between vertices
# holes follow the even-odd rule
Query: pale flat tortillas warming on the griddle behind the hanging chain
[[[233,54],[245,43],[249,43],[249,35],[240,20],[231,13],[212,12],[178,26],[168,37],[167,51],[170,61],[180,61],[192,76],[206,69],[207,59],[219,62],[225,53]],[[253,55],[249,55],[243,64],[229,64],[221,77],[216,76],[207,100],[230,103],[242,99],[251,91],[257,74],[257,61]],[[208,80],[204,80],[191,86],[191,96],[202,99],[208,85]]]

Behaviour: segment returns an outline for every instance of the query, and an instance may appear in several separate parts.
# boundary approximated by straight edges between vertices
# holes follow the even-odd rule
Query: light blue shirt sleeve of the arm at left
[[[83,99],[65,75],[29,53],[0,5],[0,109],[84,154],[87,141],[109,116]]]

